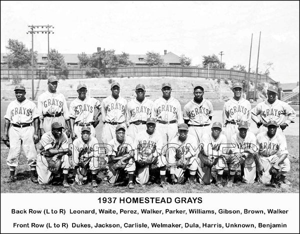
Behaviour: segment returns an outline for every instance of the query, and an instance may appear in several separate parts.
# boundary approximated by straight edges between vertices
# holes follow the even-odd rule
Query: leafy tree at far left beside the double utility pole
[[[23,42],[16,39],[9,39],[6,48],[9,50],[9,55],[5,58],[9,68],[27,68],[31,65],[31,49],[28,50]],[[37,52],[33,53],[33,59],[36,62]]]

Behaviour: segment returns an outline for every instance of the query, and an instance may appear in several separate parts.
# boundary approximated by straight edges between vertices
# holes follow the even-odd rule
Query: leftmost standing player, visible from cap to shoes
[[[21,145],[30,166],[31,181],[37,183],[35,176],[36,150],[34,144],[38,142],[38,114],[36,105],[25,98],[25,87],[16,85],[14,88],[16,100],[9,103],[4,115],[4,134],[2,140],[8,143],[9,153],[6,163],[9,166],[10,176],[7,183],[15,182],[14,173],[18,166]],[[34,126],[32,126],[32,124]],[[9,128],[10,127],[10,128]],[[8,133],[9,129],[9,133]],[[9,138],[8,139],[8,135]]]

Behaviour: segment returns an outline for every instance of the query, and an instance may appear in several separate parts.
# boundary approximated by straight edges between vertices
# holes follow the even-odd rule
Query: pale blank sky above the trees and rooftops
[[[50,48],[91,54],[97,47],[115,53],[163,50],[202,63],[216,54],[226,68],[251,70],[272,62],[280,83],[299,80],[299,1],[1,1],[1,53],[9,38],[31,48],[28,25],[53,25]],[[38,30],[44,30],[39,28]],[[34,34],[34,50],[47,53],[46,34]]]

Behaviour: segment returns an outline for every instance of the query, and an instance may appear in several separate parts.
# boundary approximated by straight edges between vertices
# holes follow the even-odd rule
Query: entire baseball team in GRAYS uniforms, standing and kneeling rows
[[[154,102],[145,97],[143,84],[136,85],[136,97],[127,102],[119,95],[120,84],[113,82],[111,95],[100,102],[86,96],[87,86],[80,83],[78,97],[69,108],[64,95],[56,91],[58,83],[57,77],[48,77],[48,89],[38,97],[37,106],[25,98],[24,86],[15,86],[16,100],[7,107],[2,136],[9,147],[7,183],[16,181],[22,147],[31,181],[40,185],[51,184],[60,175],[63,187],[69,187],[72,179],[95,188],[100,162],[107,183],[126,177],[129,189],[149,184],[154,173],[158,178],[158,170],[157,184],[162,188],[168,183],[209,185],[212,167],[219,188],[235,186],[239,168],[243,183],[290,185],[284,129],[296,114],[276,98],[274,85],[268,86],[267,99],[251,108],[241,83],[234,83],[233,97],[223,106],[222,122],[215,122],[201,86],[193,87],[194,97],[182,111],[168,82],[161,85],[162,96]],[[100,115],[102,142],[95,132]],[[256,136],[249,130],[251,119],[258,128]],[[226,181],[224,169],[228,170]]]

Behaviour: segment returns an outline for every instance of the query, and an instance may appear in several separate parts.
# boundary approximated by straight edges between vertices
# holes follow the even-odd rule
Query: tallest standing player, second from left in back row
[[[51,131],[51,124],[59,122],[65,129],[65,133],[69,134],[73,131],[73,126],[69,122],[69,111],[65,98],[62,93],[56,92],[58,79],[56,76],[48,77],[48,90],[43,92],[37,99],[37,113],[39,115],[40,135]]]

